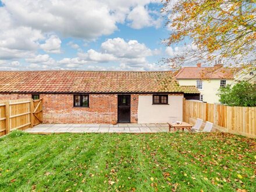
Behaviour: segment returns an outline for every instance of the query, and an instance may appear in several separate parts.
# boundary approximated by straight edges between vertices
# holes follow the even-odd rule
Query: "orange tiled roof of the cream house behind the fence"
[[[234,79],[237,68],[231,67],[182,67],[176,79]]]

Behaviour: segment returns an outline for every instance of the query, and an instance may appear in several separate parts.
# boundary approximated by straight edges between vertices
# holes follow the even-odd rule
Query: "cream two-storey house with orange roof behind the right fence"
[[[196,86],[200,91],[200,100],[213,104],[219,102],[219,97],[216,95],[219,88],[232,84],[234,74],[238,70],[234,67],[223,67],[222,64],[202,67],[198,63],[196,67],[182,67],[176,73],[175,78],[179,81],[180,86]]]

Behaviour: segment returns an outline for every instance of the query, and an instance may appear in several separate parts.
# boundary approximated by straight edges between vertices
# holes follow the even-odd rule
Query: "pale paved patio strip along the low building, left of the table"
[[[167,132],[167,124],[40,124],[25,130],[34,134],[51,133],[158,133]]]

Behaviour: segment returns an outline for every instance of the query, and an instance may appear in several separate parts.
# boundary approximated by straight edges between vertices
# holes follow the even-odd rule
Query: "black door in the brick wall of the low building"
[[[131,120],[131,95],[118,95],[118,122],[130,123]]]

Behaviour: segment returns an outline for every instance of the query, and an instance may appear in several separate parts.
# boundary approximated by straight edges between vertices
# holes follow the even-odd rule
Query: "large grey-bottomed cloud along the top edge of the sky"
[[[152,10],[145,8],[154,0],[2,0],[4,9],[12,20],[20,26],[27,26],[44,33],[60,33],[66,37],[95,39],[112,34],[118,23],[125,23],[126,17],[131,27],[156,26],[161,24]],[[139,15],[137,15],[139,14]],[[136,16],[137,15],[137,16]],[[8,23],[8,21],[6,22]]]

